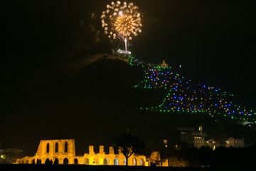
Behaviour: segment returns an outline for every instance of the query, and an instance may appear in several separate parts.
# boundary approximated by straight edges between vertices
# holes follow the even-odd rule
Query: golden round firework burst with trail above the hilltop
[[[125,43],[132,40],[142,32],[142,16],[138,11],[139,7],[131,2],[117,1],[107,5],[107,10],[102,12],[102,28],[109,38],[122,38]],[[127,47],[126,47],[127,49]]]

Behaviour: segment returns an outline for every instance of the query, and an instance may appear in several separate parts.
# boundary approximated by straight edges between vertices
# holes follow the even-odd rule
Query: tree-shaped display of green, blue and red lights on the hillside
[[[247,110],[232,101],[226,100],[234,94],[223,92],[220,88],[205,86],[201,83],[192,83],[171,67],[152,66],[129,56],[129,65],[144,68],[144,81],[136,88],[164,88],[169,90],[162,103],[155,107],[141,108],[161,113],[207,113],[210,117],[223,115],[243,123],[256,123],[256,113]]]

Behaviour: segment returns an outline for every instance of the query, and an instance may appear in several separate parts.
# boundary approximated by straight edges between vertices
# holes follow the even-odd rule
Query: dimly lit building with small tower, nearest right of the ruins
[[[203,133],[203,127],[200,125],[198,129],[196,128],[178,128],[180,131],[181,142],[186,142],[188,145],[193,147],[203,147],[206,146],[206,133]]]

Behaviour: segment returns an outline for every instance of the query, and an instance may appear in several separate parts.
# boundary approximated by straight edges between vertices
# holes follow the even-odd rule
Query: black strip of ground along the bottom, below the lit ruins
[[[105,165],[0,165],[0,170],[86,170],[86,171],[105,171],[105,170],[111,170],[111,171],[117,171],[117,170],[124,170],[124,171],[182,171],[182,170],[253,170],[253,168],[233,168],[233,167],[221,167],[221,168],[213,168],[213,167],[142,167],[142,166],[105,166]]]

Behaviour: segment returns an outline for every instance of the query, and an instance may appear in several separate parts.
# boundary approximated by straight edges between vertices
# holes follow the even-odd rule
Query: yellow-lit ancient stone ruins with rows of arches
[[[119,147],[120,148],[120,147]],[[144,155],[133,154],[128,158],[128,165],[148,166],[149,160]],[[104,151],[104,146],[100,145],[99,153],[95,153],[94,146],[89,146],[89,153],[83,156],[75,155],[75,140],[41,140],[36,155],[33,157],[23,157],[16,160],[16,164],[84,164],[84,165],[126,165],[126,157],[121,150],[117,154],[114,148],[110,147],[110,152]],[[168,166],[168,161],[164,163]]]

